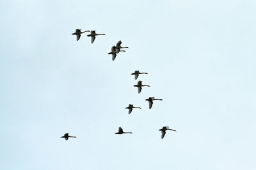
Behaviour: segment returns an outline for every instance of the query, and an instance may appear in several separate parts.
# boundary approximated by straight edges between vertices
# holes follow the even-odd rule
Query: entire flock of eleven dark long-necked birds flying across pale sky
[[[95,41],[96,36],[100,36],[100,35],[105,35],[105,34],[97,34],[96,31],[81,31],[81,29],[76,29],[76,32],[72,33],[72,35],[76,35],[76,40],[78,41],[81,38],[81,34],[83,34],[84,32],[90,32],[90,34],[88,34],[88,37],[91,37],[91,43],[93,43]],[[122,48],[129,48],[128,46],[121,46],[122,41],[118,41],[118,43],[116,43],[116,45],[113,45],[111,48],[111,52],[109,52],[108,54],[112,55],[112,60],[116,59],[116,54],[119,52],[125,52],[125,50],[121,50]],[[134,71],[134,73],[131,73],[132,75],[134,75],[135,80],[137,80],[138,76],[140,74],[148,74],[148,73],[140,73],[140,71]],[[138,81],[138,83],[136,85],[134,85],[134,87],[138,87],[138,93],[140,94],[142,87],[150,87],[150,85],[142,85],[142,81]],[[149,109],[152,108],[153,106],[153,101],[163,101],[163,99],[156,99],[155,97],[148,97],[148,99],[145,99],[145,101],[148,101],[149,103]],[[141,109],[140,107],[137,106],[133,106],[133,104],[129,104],[128,107],[126,107],[125,109],[128,109],[128,113],[131,114],[132,113],[132,109],[134,108],[138,108]],[[162,132],[161,135],[161,139],[164,138],[166,131],[175,131],[175,129],[169,129],[168,126],[164,126],[162,127],[162,129],[159,129],[159,131]],[[132,132],[124,132],[122,127],[118,128],[118,132],[116,132],[115,134],[132,134]],[[61,138],[65,138],[66,141],[68,140],[68,138],[76,138],[76,136],[69,136],[68,133],[64,134],[64,136],[61,136]]]

